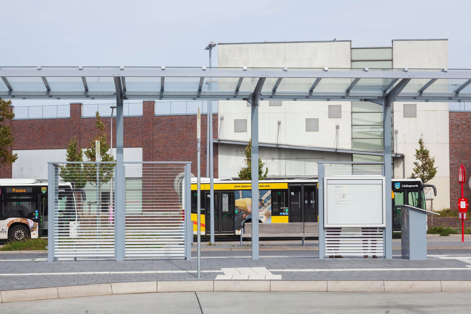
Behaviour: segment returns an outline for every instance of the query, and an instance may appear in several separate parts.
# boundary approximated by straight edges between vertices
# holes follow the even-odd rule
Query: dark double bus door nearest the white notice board
[[[317,222],[317,185],[290,185],[289,222]]]

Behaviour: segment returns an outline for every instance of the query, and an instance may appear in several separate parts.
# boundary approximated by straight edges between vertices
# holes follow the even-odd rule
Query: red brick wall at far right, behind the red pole
[[[450,203],[458,210],[456,203],[461,197],[458,183],[458,169],[461,164],[468,170],[464,184],[464,197],[471,199],[469,178],[471,175],[471,113],[449,113],[450,128]]]

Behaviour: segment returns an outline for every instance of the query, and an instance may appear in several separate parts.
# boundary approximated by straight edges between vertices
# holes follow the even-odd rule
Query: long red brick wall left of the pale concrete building
[[[110,117],[103,117],[109,141]],[[96,118],[81,118],[81,104],[70,105],[70,118],[10,121],[14,150],[65,149],[73,136],[82,148],[89,147],[97,133]],[[206,174],[206,115],[201,117],[201,173]],[[218,115],[213,115],[217,137]],[[116,119],[113,119],[116,132]],[[115,133],[114,133],[115,134]],[[113,136],[113,147],[116,137]],[[143,161],[191,161],[196,175],[196,115],[154,116],[154,102],[143,103],[142,117],[124,117],[124,147],[143,147]],[[218,145],[214,145],[214,177],[218,176]],[[0,177],[11,177],[11,166]]]

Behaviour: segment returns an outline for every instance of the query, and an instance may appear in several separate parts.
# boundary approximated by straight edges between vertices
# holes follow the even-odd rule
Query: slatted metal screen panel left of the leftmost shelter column
[[[114,257],[113,178],[113,163],[54,165],[55,258]]]

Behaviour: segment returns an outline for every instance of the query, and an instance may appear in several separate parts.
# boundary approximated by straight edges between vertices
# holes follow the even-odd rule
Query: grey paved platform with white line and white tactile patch
[[[429,250],[429,259],[318,259],[313,251],[203,252],[203,280],[471,280],[471,250]],[[196,259],[62,260],[48,263],[44,253],[1,254],[0,290],[111,282],[193,281]],[[221,276],[219,276],[221,275]],[[231,275],[230,278],[228,275]],[[252,275],[252,277],[250,277]],[[219,277],[218,277],[219,276]],[[234,277],[235,276],[235,277]],[[263,276],[263,277],[262,277]]]

